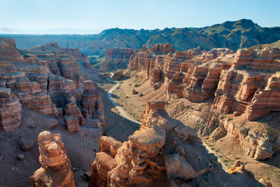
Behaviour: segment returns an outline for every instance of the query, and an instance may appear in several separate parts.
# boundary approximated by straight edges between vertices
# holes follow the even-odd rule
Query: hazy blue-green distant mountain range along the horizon
[[[172,43],[176,50],[188,50],[200,46],[211,48],[248,48],[258,44],[280,40],[280,27],[260,27],[251,20],[224,22],[201,28],[165,29],[106,29],[99,34],[27,35],[0,34],[15,39],[18,48],[29,48],[38,44],[55,42],[61,47],[80,48],[87,55],[106,54],[109,48],[150,48],[155,43]]]

